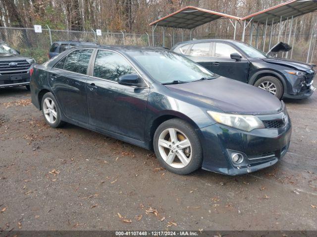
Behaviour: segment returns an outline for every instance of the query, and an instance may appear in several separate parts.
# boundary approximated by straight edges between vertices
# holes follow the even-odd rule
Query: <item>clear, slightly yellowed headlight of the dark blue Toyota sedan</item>
[[[265,128],[263,122],[258,117],[253,115],[234,115],[213,111],[207,111],[207,113],[218,123],[235,127],[247,132],[250,132],[256,128]]]

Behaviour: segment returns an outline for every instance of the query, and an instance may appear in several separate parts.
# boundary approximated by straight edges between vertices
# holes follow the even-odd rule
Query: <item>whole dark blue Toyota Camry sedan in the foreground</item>
[[[87,46],[37,65],[32,103],[51,127],[65,122],[153,149],[176,174],[240,175],[288,150],[283,102],[163,48]]]

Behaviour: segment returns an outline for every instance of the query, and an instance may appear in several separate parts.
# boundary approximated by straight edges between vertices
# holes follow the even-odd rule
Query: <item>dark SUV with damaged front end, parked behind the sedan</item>
[[[312,65],[267,56],[241,41],[192,40],[178,43],[172,50],[213,73],[255,85],[279,99],[306,98],[316,89]]]

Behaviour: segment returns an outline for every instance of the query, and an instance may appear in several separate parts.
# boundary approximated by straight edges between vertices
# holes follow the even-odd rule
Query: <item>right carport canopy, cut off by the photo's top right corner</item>
[[[290,17],[301,16],[317,10],[317,0],[289,0],[272,6],[263,11],[243,17],[241,20],[253,20],[256,23],[267,24],[285,21]],[[266,21],[267,19],[267,21]]]

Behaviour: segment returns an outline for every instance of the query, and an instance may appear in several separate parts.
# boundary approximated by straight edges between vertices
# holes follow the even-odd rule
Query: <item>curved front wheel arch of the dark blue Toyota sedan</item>
[[[148,137],[148,141],[149,141],[149,148],[151,150],[153,150],[153,138],[154,138],[154,133],[157,130],[157,128],[159,127],[159,125],[169,119],[172,118],[179,118],[182,119],[186,122],[188,122],[190,125],[193,126],[193,128],[196,130],[198,129],[198,125],[188,116],[180,113],[180,112],[176,112],[176,111],[164,111],[163,114],[160,114],[157,118],[155,118],[153,120],[153,122],[150,124],[149,126],[149,137]]]

